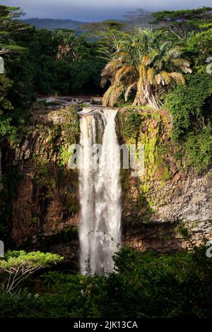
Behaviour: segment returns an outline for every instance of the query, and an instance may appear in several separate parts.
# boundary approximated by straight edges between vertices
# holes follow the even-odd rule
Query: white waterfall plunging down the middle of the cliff
[[[92,273],[114,268],[113,254],[121,243],[121,186],[119,146],[114,109],[95,109],[81,117],[81,170],[79,174],[81,272],[90,261]],[[93,144],[101,143],[98,167],[93,167]]]

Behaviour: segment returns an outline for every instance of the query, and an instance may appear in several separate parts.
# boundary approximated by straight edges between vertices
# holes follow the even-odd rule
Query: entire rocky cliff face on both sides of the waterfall
[[[120,143],[145,146],[143,177],[121,172],[123,242],[141,251],[181,249],[191,239],[212,238],[212,171],[183,172],[170,140],[171,122],[163,111],[120,109],[117,114]],[[67,162],[69,146],[78,139],[76,112],[48,109],[33,114],[13,147],[2,148],[3,173],[16,174],[9,172],[8,183],[15,183],[7,196],[11,208],[1,213],[3,223],[10,220],[14,247],[77,259],[78,174]]]

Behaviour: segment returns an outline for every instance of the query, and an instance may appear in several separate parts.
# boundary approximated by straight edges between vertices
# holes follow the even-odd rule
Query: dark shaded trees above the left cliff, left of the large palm
[[[17,72],[22,74],[20,82],[28,82],[28,93],[31,97],[33,93],[66,95],[91,93],[92,90],[98,93],[100,90],[100,71],[104,63],[97,59],[95,45],[86,42],[83,37],[76,37],[73,32],[63,34],[64,37],[61,37],[61,33],[30,29],[16,36],[16,42],[26,45],[28,51],[18,61],[16,59],[8,62],[6,68],[12,77],[17,77]],[[73,39],[75,40],[78,53],[75,61],[70,57],[57,57],[58,49],[62,45],[61,39],[64,43],[72,42],[72,47]]]

